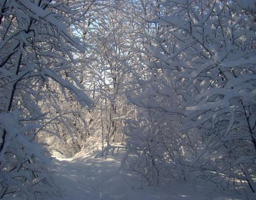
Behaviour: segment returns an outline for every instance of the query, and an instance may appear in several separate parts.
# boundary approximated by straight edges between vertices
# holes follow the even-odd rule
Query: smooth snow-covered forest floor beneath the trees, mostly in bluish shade
[[[65,194],[62,199],[245,199],[238,194],[213,192],[209,187],[194,188],[193,184],[189,182],[173,182],[169,187],[144,187],[141,189],[138,178],[119,172],[121,156],[110,155],[95,158],[95,155],[95,153],[88,153],[74,158],[56,157],[52,159],[56,183]]]

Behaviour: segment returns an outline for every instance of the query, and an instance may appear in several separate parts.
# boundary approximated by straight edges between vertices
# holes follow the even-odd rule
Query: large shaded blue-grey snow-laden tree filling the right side
[[[132,102],[153,109],[154,113],[183,116],[178,119],[183,142],[178,147],[169,142],[171,148],[163,152],[181,149],[185,161],[180,162],[178,154],[174,154],[174,161],[166,160],[165,156],[161,161],[170,162],[170,166],[179,161],[190,175],[195,177],[195,172],[199,172],[198,177],[216,183],[221,189],[247,184],[253,193],[254,3],[162,2],[156,9],[156,17],[148,20],[153,22],[151,28],[154,23],[159,24],[159,34],[152,37],[153,32],[149,31],[145,36],[151,41],[145,49],[153,58],[141,59],[151,69],[151,78],[138,82],[137,95],[128,94]],[[152,138],[151,143],[157,141],[157,137]],[[178,137],[174,141],[177,144]]]

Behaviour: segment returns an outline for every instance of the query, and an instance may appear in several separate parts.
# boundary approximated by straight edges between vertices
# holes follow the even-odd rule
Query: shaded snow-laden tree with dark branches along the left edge
[[[1,1],[0,198],[55,198],[48,160],[35,139],[51,112],[44,103],[55,96],[52,82],[82,106],[92,106],[73,84],[76,80],[64,75],[76,54],[85,51],[68,31],[85,14],[81,6],[75,1]]]

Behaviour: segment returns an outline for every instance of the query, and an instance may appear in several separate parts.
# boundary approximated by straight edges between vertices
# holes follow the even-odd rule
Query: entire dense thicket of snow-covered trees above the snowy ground
[[[40,142],[255,193],[255,3],[2,1],[0,197],[50,195]]]

